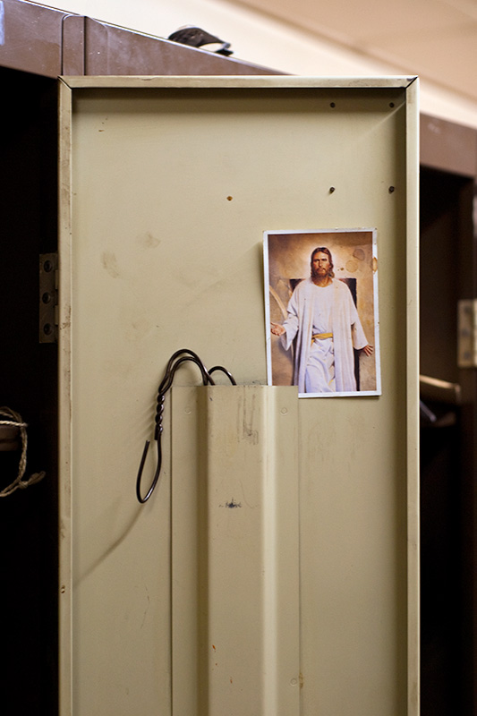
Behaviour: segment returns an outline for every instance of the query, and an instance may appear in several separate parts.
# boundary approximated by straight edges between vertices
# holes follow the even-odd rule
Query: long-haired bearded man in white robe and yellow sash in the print
[[[299,393],[356,391],[353,348],[372,355],[353,296],[335,278],[331,252],[319,246],[311,253],[311,277],[294,289],[283,325],[271,324],[288,350],[297,336],[294,385]]]

